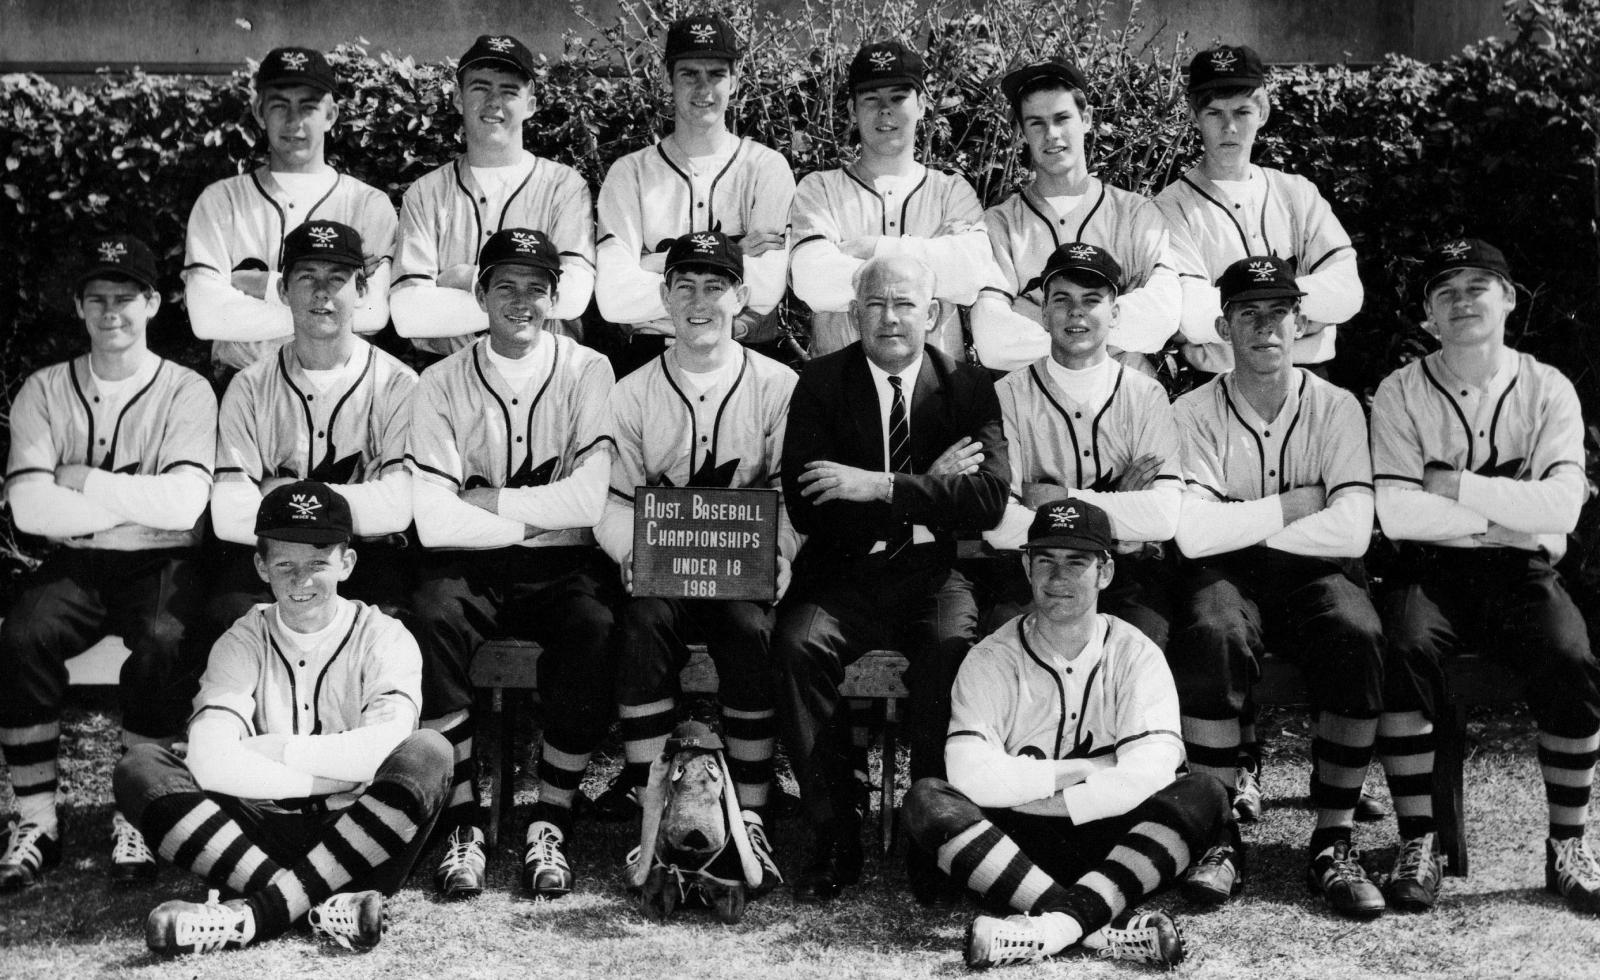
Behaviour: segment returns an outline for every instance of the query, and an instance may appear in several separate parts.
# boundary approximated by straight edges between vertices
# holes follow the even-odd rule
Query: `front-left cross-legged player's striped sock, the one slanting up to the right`
[[[373,783],[306,857],[245,898],[256,913],[256,938],[278,935],[323,898],[400,855],[427,823],[426,809],[400,783]]]

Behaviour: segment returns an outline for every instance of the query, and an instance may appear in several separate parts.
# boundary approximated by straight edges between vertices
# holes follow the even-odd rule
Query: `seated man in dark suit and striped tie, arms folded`
[[[912,661],[912,778],[942,775],[950,684],[978,639],[955,536],[994,527],[1010,490],[989,375],[926,346],[934,275],[909,256],[869,261],[851,314],[861,341],[800,375],[784,437],[784,500],[808,535],[773,634],[789,757],[816,831],[795,886],[826,902],[861,874],[861,812],[840,711],[845,668],[878,647]],[[914,874],[933,887],[931,862]],[[918,898],[925,897],[918,890]],[[931,895],[930,895],[931,897]]]

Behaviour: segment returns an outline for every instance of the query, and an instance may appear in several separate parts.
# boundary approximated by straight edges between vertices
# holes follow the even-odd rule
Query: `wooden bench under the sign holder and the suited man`
[[[717,693],[717,665],[706,653],[704,645],[690,647],[690,661],[678,674],[678,685],[683,693],[714,695]],[[515,775],[515,759],[510,746],[517,717],[506,708],[504,692],[538,690],[538,663],[542,649],[528,641],[490,641],[478,647],[472,658],[469,673],[474,687],[486,687],[493,697],[493,713],[499,716],[499,748],[498,759],[486,759],[490,765],[490,825],[488,842],[494,847],[499,841],[499,823],[510,813],[512,786]],[[846,698],[867,698],[883,701],[883,732],[880,748],[883,749],[882,777],[878,781],[882,802],[878,805],[878,828],[883,850],[888,853],[894,842],[894,727],[899,721],[899,700],[907,697],[902,674],[906,658],[893,650],[870,650],[845,671],[845,682],[838,692]]]

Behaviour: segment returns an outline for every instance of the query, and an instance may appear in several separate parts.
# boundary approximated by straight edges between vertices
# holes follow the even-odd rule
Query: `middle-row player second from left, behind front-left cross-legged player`
[[[390,608],[410,594],[405,439],[416,375],[354,333],[370,288],[365,255],[347,224],[317,219],[291,231],[277,288],[294,338],[235,375],[222,396],[211,492],[224,543],[210,612],[218,633],[266,599],[251,557],[254,514],[267,493],[301,479],[331,485],[355,514],[366,570],[350,594]]]

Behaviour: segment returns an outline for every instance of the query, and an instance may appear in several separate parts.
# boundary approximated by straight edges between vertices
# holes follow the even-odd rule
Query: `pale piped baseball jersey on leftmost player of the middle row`
[[[123,397],[109,397],[85,354],[29,375],[11,404],[6,492],[13,508],[18,488],[30,480],[50,482],[54,488],[58,466],[83,464],[96,471],[85,480],[82,495],[58,490],[58,496],[82,496],[86,509],[98,512],[54,514],[66,525],[86,520],[59,538],[69,548],[144,551],[200,543],[197,524],[203,501],[198,509],[186,509],[186,517],[194,511],[187,520],[190,527],[163,530],[152,524],[168,528],[174,524],[155,517],[179,503],[171,500],[174,492],[165,477],[184,474],[211,485],[216,396],[200,375],[154,354],[131,386]],[[70,508],[80,501],[40,503]],[[42,517],[48,524],[51,514]]]

